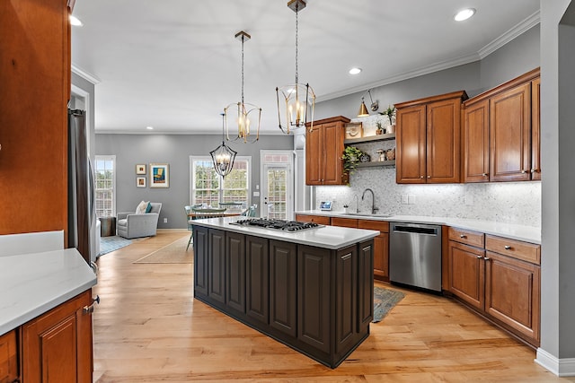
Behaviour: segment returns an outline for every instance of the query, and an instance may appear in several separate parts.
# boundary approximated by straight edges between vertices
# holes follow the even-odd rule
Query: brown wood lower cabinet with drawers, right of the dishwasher
[[[539,245],[449,228],[449,291],[509,332],[540,342]]]

